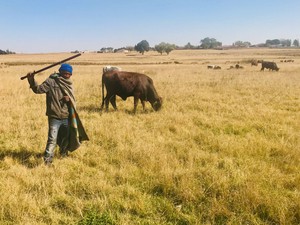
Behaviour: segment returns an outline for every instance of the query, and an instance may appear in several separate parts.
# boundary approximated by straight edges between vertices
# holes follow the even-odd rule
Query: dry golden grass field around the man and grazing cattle
[[[0,224],[300,223],[299,49],[85,53],[70,63],[90,141],[46,167],[45,95],[20,77],[69,56],[0,55]],[[162,110],[101,114],[105,65],[149,75]]]

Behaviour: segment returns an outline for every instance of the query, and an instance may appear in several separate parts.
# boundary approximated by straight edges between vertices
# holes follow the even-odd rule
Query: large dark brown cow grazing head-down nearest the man
[[[106,96],[104,97],[104,86],[106,88]],[[102,75],[102,105],[108,111],[109,102],[115,110],[116,95],[120,96],[124,101],[127,97],[134,97],[134,113],[141,100],[143,110],[145,110],[145,101],[149,101],[152,108],[158,111],[162,106],[162,98],[158,96],[153,81],[150,77],[141,73],[125,72],[125,71],[108,71]]]

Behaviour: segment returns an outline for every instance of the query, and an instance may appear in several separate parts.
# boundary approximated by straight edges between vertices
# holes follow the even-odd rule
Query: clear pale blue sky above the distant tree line
[[[0,0],[0,18],[17,53],[300,38],[300,0]]]

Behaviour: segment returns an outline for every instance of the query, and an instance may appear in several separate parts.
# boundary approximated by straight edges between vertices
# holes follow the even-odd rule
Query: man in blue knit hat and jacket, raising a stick
[[[38,85],[34,75],[27,74],[30,88],[36,94],[46,94],[46,115],[48,116],[48,140],[44,153],[44,162],[51,165],[56,144],[62,157],[68,155],[70,105],[75,107],[72,76],[73,68],[62,64],[59,73],[50,75]]]

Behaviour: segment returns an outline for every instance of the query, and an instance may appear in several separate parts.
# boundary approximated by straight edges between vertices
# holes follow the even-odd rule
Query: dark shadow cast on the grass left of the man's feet
[[[12,158],[18,163],[26,166],[27,168],[35,168],[43,163],[43,153],[31,152],[26,149],[20,150],[8,150],[0,149],[0,160],[4,160],[6,157]]]

